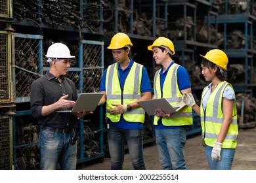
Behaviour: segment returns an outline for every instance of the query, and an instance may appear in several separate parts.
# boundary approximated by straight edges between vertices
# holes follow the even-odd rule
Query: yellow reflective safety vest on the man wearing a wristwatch
[[[106,73],[106,117],[112,122],[119,122],[121,114],[111,115],[108,109],[115,108],[112,103],[128,105],[137,101],[142,93],[140,92],[140,85],[142,80],[142,67],[139,63],[134,62],[127,78],[123,90],[121,90],[118,75],[118,65],[114,63],[108,66]],[[131,111],[123,113],[123,118],[127,122],[144,123],[145,111],[139,107]]]

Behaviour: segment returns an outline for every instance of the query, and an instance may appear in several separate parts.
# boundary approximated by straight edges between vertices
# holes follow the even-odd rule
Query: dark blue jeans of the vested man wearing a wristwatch
[[[125,139],[131,158],[131,163],[135,170],[144,170],[143,159],[143,130],[142,129],[119,129],[110,125],[108,129],[108,148],[111,157],[111,169],[123,169],[123,159],[125,154]]]

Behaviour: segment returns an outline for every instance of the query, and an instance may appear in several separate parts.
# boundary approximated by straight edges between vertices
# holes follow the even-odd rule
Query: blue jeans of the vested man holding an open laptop
[[[161,167],[165,170],[184,170],[186,129],[156,129],[156,145]]]

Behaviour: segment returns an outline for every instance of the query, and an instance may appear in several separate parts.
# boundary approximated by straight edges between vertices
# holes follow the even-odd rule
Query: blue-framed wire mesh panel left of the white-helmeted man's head
[[[43,75],[42,40],[42,35],[14,33],[12,83],[16,103],[30,102],[30,86]]]

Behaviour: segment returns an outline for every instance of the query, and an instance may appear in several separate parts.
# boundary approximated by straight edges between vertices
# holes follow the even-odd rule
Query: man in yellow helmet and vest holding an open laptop
[[[178,104],[182,93],[191,92],[191,84],[188,71],[173,60],[173,42],[166,37],[159,37],[148,46],[148,50],[153,51],[156,64],[161,65],[154,77],[154,98],[165,98],[171,105]],[[162,108],[156,110],[156,144],[163,169],[187,169],[184,159],[186,127],[192,123],[191,107],[184,107],[173,114],[163,112]]]

